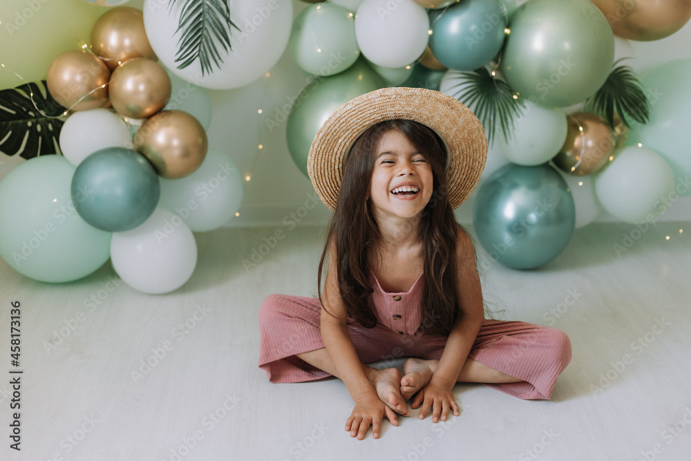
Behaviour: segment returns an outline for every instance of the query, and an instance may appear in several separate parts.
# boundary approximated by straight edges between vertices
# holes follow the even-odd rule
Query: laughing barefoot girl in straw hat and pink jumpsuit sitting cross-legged
[[[345,423],[370,425],[420,408],[459,415],[456,382],[549,399],[571,360],[564,332],[484,318],[471,238],[453,209],[486,160],[482,125],[437,91],[382,88],[338,109],[317,133],[307,171],[334,210],[319,263],[319,298],[272,294],[259,313],[259,366],[271,382],[339,377],[354,401]],[[321,291],[321,275],[326,278]],[[397,368],[366,364],[410,357]]]

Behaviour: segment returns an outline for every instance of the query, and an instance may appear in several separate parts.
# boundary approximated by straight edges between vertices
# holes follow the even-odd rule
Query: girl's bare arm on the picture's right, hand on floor
[[[454,415],[459,415],[451,391],[484,320],[482,287],[480,276],[477,274],[473,242],[461,229],[458,230],[456,263],[456,296],[460,311],[432,379],[413,401],[413,408],[422,403],[420,418],[424,418],[427,411],[432,408],[433,422],[439,421],[440,413],[445,421],[449,409],[453,410]]]

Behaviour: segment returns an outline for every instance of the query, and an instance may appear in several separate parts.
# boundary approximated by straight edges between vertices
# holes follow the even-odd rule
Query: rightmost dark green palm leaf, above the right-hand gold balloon
[[[616,66],[616,63],[614,65]],[[618,66],[612,70],[605,84],[588,102],[591,111],[605,117],[614,126],[614,114],[618,113],[626,126],[630,117],[638,123],[645,124],[650,117],[650,102],[645,97],[641,84],[629,66]]]

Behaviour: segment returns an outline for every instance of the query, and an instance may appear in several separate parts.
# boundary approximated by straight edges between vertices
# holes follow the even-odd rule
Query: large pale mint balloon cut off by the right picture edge
[[[627,144],[640,142],[660,153],[672,167],[676,193],[691,195],[691,59],[676,59],[640,76],[650,101],[647,124],[632,122]],[[630,118],[627,120],[631,120]]]

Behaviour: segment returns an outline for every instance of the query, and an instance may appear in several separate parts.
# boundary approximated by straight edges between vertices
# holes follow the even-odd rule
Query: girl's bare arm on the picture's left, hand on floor
[[[324,305],[321,308],[321,338],[338,376],[355,402],[345,430],[350,431],[351,437],[357,435],[361,440],[372,424],[372,438],[376,439],[379,438],[383,417],[387,417],[395,426],[398,426],[398,419],[396,413],[379,399],[377,391],[366,375],[364,365],[357,356],[345,323],[347,311],[339,294],[336,274],[336,256],[332,245],[322,296]]]

